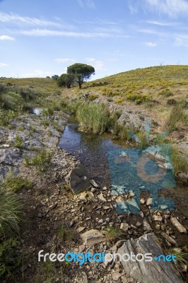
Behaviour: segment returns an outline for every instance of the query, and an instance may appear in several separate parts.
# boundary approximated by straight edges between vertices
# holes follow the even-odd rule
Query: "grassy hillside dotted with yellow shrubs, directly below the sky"
[[[32,86],[33,91],[47,93],[47,100],[78,97],[81,93],[88,92],[91,98],[92,96],[93,98],[100,97],[102,100],[148,112],[161,122],[172,108],[167,105],[169,99],[184,100],[184,102],[188,99],[187,65],[148,67],[126,71],[83,83],[81,90],[78,89],[78,86],[72,87],[71,90],[59,88],[56,81],[52,79],[0,79],[0,83],[8,82],[25,88]],[[137,102],[141,104],[136,105]]]

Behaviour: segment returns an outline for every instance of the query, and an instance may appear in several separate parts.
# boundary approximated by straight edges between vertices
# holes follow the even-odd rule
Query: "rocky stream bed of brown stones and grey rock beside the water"
[[[143,194],[139,214],[117,214],[117,203],[131,200],[134,197],[131,192],[119,197],[113,195],[110,186],[101,187],[97,183],[78,195],[71,191],[65,178],[80,161],[57,146],[68,119],[69,113],[65,112],[61,115],[54,112],[50,117],[23,115],[11,121],[8,128],[0,128],[1,179],[11,170],[33,183],[30,190],[23,188],[18,192],[18,198],[24,204],[25,221],[21,224],[18,246],[18,253],[24,255],[23,265],[16,279],[22,280],[24,274],[28,283],[146,282],[144,278],[152,270],[138,279],[132,267],[125,270],[118,259],[107,264],[86,262],[78,265],[78,262],[72,262],[50,266],[37,261],[40,250],[45,253],[117,252],[124,243],[143,241],[136,239],[151,233],[157,236],[164,253],[170,248],[187,252],[188,222],[177,209],[154,211],[151,198]],[[25,156],[32,158],[42,148],[53,152],[49,166],[44,171],[37,166],[25,166]],[[112,237],[107,233],[110,227],[121,233]],[[126,246],[124,248],[126,250]],[[175,267],[169,265],[169,276],[177,279]],[[178,264],[176,267],[182,276],[178,277],[178,282],[185,282],[187,265]]]

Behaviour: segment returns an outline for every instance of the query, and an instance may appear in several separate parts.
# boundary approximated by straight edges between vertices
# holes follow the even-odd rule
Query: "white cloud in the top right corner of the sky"
[[[170,17],[177,17],[188,12],[188,2],[186,0],[145,0],[158,13],[165,13]]]

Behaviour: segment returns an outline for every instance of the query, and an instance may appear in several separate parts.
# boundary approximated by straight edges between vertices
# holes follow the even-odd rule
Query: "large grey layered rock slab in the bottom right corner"
[[[117,251],[120,255],[124,253],[152,253],[153,260],[151,262],[143,261],[122,261],[124,271],[127,275],[133,277],[141,283],[183,283],[182,278],[177,273],[171,262],[154,260],[155,256],[163,255],[164,252],[157,243],[157,239],[153,233],[148,233],[140,238],[132,239],[125,242]],[[127,257],[126,257],[127,258]]]

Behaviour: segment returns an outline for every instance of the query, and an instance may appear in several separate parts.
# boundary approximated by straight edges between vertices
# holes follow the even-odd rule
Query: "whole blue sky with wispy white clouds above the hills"
[[[0,76],[188,64],[188,0],[0,0]]]

